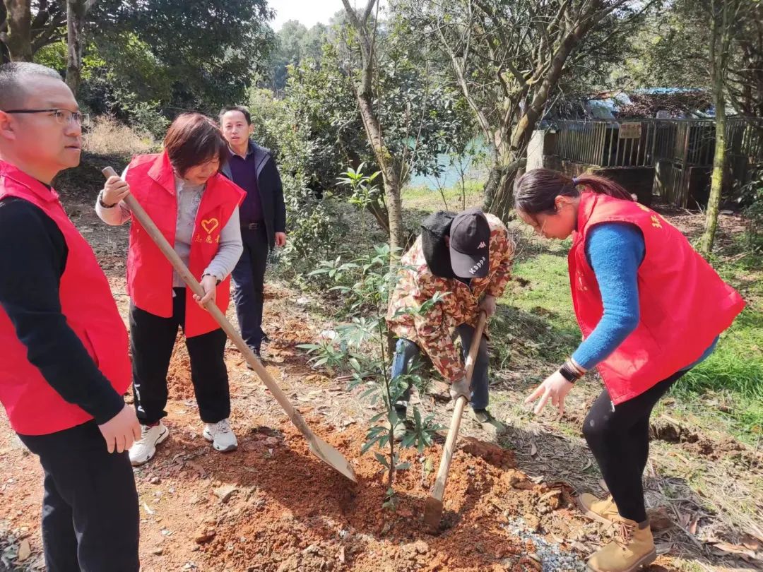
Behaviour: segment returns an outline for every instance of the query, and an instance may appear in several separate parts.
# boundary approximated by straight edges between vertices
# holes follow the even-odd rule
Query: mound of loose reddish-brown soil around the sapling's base
[[[201,548],[214,570],[539,570],[523,558],[534,551],[530,541],[513,537],[505,524],[534,514],[542,528],[562,505],[561,491],[509,468],[510,451],[464,442],[453,459],[441,529],[431,535],[422,516],[434,474],[423,468],[427,458],[436,466],[439,447],[424,457],[401,452],[411,467],[398,472],[396,506],[386,509],[380,465],[370,454],[358,455],[361,428],[319,430],[351,459],[358,484],[314,458],[291,425],[280,429],[282,437],[247,436],[237,453],[241,464],[217,467],[216,478],[235,483],[240,494]]]

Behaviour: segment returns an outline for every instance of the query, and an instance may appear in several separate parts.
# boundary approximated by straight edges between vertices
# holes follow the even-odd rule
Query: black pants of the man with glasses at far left
[[[138,572],[138,495],[127,452],[109,453],[95,421],[19,437],[43,466],[46,570]]]

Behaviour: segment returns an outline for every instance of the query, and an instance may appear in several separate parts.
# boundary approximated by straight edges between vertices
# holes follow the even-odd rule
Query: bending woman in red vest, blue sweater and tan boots
[[[583,433],[611,496],[583,494],[578,503],[591,519],[617,523],[619,534],[588,567],[636,570],[656,558],[642,489],[649,416],[713,352],[744,302],[681,232],[607,178],[535,169],[517,181],[515,206],[542,236],[572,236],[572,302],[584,338],[526,402],[539,399],[539,413],[550,399],[561,415],[575,381],[598,369],[605,389]]]

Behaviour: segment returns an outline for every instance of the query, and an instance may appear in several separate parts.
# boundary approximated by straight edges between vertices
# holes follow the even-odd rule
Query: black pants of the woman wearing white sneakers
[[[133,393],[140,423],[152,425],[167,415],[167,371],[178,326],[185,325],[185,288],[175,288],[172,317],[163,318],[130,304],[130,349]],[[230,417],[230,390],[225,368],[225,333],[214,329],[185,339],[191,358],[191,381],[204,423]]]

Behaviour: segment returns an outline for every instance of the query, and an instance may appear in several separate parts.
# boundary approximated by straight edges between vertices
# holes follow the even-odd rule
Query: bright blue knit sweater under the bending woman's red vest
[[[632,224],[604,223],[588,233],[585,255],[599,284],[604,315],[572,354],[583,368],[594,368],[639,325],[638,272],[644,253],[644,237]],[[707,358],[717,342],[716,338],[697,362],[685,369]]]

